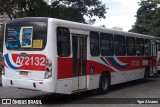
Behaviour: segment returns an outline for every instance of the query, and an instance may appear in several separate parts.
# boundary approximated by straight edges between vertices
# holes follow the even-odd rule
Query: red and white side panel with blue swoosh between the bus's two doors
[[[150,62],[147,57],[143,56],[91,57],[91,60],[87,61],[87,75],[94,77],[95,75],[100,75],[102,72],[110,72],[111,84],[123,83],[143,78],[146,67],[151,66]],[[90,83],[91,81],[88,84]]]

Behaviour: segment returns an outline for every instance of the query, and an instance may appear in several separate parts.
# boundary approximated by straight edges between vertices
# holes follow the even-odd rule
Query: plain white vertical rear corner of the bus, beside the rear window
[[[56,21],[52,18],[48,20],[48,38],[47,38],[47,47],[46,54],[47,57],[52,61],[52,77],[54,81],[52,81],[51,86],[53,87],[53,92],[56,92],[57,87],[57,27]]]

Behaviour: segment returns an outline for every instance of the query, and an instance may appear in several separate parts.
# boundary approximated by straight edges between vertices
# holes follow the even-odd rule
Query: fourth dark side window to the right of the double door
[[[133,38],[133,37],[126,38],[126,48],[127,48],[127,55],[128,56],[136,55],[135,38]]]

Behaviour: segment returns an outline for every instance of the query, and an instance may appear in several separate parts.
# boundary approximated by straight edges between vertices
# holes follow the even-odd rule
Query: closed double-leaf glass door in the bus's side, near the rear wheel
[[[73,80],[72,91],[80,91],[86,89],[86,61],[87,61],[87,37],[72,36],[73,51]]]

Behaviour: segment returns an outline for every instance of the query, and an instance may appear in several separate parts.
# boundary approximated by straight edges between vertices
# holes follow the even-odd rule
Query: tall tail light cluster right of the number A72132
[[[44,79],[48,79],[50,77],[52,77],[52,62],[47,58]]]

